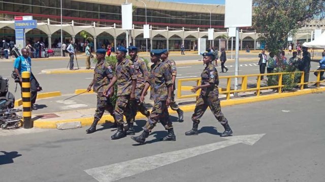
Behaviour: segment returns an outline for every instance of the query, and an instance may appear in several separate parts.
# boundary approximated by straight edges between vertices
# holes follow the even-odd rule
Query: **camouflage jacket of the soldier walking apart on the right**
[[[201,74],[201,85],[205,85],[208,83],[212,83],[212,86],[207,88],[202,88],[200,96],[216,96],[218,97],[219,90],[218,90],[218,84],[219,84],[219,76],[217,69],[212,65],[209,64],[205,67]]]

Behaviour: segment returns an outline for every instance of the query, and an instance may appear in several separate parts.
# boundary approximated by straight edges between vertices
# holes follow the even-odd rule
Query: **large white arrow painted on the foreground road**
[[[100,182],[104,182],[104,181],[111,182],[124,177],[139,174],[147,170],[156,169],[161,166],[172,164],[184,159],[188,159],[218,149],[229,147],[235,144],[243,143],[247,145],[253,145],[264,135],[265,133],[229,136],[225,138],[228,139],[227,141],[207,144],[203,146],[198,146],[198,147],[193,147],[193,148],[183,149],[183,150],[178,150],[173,152],[167,152],[163,154],[157,154],[153,156],[115,163],[115,164],[106,165],[102,167],[95,167],[92,169],[86,169],[85,172]]]

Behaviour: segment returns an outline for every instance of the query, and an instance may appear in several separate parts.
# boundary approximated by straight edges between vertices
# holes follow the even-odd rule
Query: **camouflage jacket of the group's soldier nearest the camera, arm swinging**
[[[150,99],[166,101],[168,98],[168,86],[172,84],[172,76],[168,65],[161,61],[151,65],[149,82]]]

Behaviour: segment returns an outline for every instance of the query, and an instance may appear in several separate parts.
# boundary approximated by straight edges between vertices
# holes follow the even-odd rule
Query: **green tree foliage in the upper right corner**
[[[325,17],[324,0],[253,0],[253,26],[275,55],[286,39],[313,19]]]

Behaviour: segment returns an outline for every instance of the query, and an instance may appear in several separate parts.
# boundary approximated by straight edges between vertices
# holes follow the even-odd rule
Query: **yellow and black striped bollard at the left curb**
[[[31,122],[31,103],[30,103],[30,72],[21,73],[21,97],[22,97],[22,116],[24,119],[24,128],[32,128]]]

